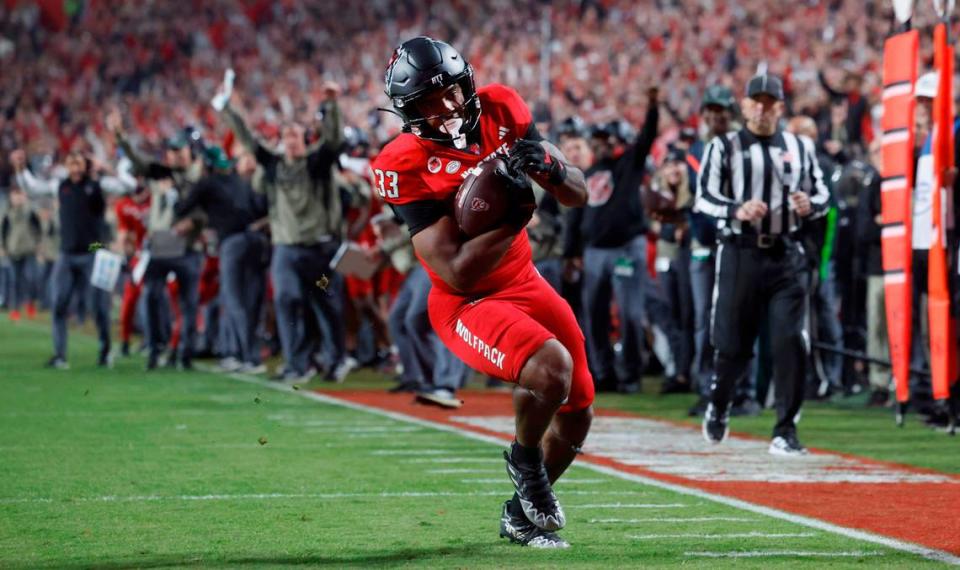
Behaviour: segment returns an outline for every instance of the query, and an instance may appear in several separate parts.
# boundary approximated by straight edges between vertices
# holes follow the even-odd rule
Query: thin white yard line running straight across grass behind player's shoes
[[[566,495],[643,495],[637,491],[565,491]],[[410,499],[426,497],[502,497],[503,491],[394,491],[382,493],[214,493],[208,495],[102,495],[99,497],[0,497],[0,505],[23,503],[150,503],[158,501],[259,501],[267,499]],[[576,505],[572,505],[576,506]]]

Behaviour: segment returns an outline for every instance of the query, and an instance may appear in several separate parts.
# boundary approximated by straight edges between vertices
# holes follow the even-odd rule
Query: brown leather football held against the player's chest
[[[464,179],[453,204],[454,218],[468,237],[488,232],[503,220],[512,203],[504,178],[497,173],[506,170],[503,160],[496,158],[477,165]]]

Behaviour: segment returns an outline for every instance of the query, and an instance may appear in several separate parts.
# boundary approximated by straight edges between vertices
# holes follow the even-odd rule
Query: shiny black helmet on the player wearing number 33
[[[473,67],[450,44],[416,37],[400,44],[387,64],[386,88],[394,111],[403,119],[403,130],[422,139],[454,145],[462,144],[463,137],[480,120],[480,99],[473,79]],[[417,102],[427,95],[459,86],[463,104],[449,113],[426,116]],[[441,120],[460,120],[458,128],[446,125],[432,126]],[[456,132],[449,132],[455,130]]]

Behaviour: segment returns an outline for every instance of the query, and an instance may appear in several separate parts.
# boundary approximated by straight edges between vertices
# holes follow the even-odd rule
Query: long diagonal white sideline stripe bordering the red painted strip
[[[500,447],[505,447],[507,442],[503,439],[493,437],[490,435],[485,435],[481,433],[475,433],[470,430],[466,430],[457,426],[446,425],[438,422],[432,422],[429,420],[424,420],[420,418],[415,418],[413,416],[408,416],[406,414],[400,414],[397,412],[391,412],[388,410],[382,410],[373,406],[367,406],[364,404],[357,404],[355,402],[348,402],[340,398],[332,398],[330,396],[325,396],[323,394],[318,394],[316,392],[310,391],[301,391],[293,390],[289,386],[285,385],[271,385],[268,381],[254,377],[248,376],[246,374],[229,374],[227,375],[234,380],[239,380],[241,382],[246,382],[248,384],[256,384],[258,386],[269,387],[272,390],[278,390],[281,392],[288,392],[295,395],[300,395],[304,398],[309,398],[316,402],[322,402],[328,405],[340,406],[344,408],[349,408],[352,410],[358,410],[362,412],[368,412],[371,414],[376,414],[382,417],[391,418],[394,420],[404,421],[413,423],[421,426],[428,426],[436,428],[440,431],[445,431],[447,433],[456,433],[460,434],[463,437],[473,439],[475,441],[483,441],[486,443],[492,443]],[[866,532],[863,530],[847,528],[833,523],[828,523],[826,521],[821,521],[811,517],[805,517],[802,515],[796,515],[793,513],[788,513],[786,511],[780,511],[770,507],[764,507],[761,505],[755,505],[753,503],[748,503],[740,499],[734,499],[732,497],[724,497],[722,495],[714,495],[707,491],[696,489],[693,487],[684,487],[683,485],[677,485],[675,483],[667,483],[666,481],[660,481],[659,479],[653,479],[651,477],[644,477],[642,475],[634,475],[633,473],[624,473],[617,469],[611,467],[606,467],[603,465],[596,465],[586,461],[578,463],[578,466],[583,467],[584,469],[591,469],[597,473],[603,473],[616,477],[618,479],[623,479],[626,481],[633,481],[635,483],[641,483],[643,485],[650,485],[651,487],[656,487],[658,489],[665,489],[668,491],[673,491],[675,493],[680,493],[682,495],[688,495],[691,497],[697,497],[699,499],[705,499],[712,501],[714,503],[719,503],[721,505],[727,505],[729,507],[734,507],[737,509],[749,511],[752,513],[757,513],[760,515],[773,517],[780,520],[785,520],[794,524],[803,525],[806,527],[814,528],[816,530],[822,530],[825,532],[831,532],[834,534],[839,534],[847,538],[852,538],[855,540],[863,540],[865,542],[872,542],[874,544],[879,544],[887,548],[892,548],[895,550],[900,550],[902,552],[909,552],[911,554],[916,554],[930,560],[936,560],[938,562],[944,562],[947,564],[954,564],[960,566],[960,556],[950,554],[949,552],[944,552],[942,550],[936,550],[934,548],[928,548],[926,546],[921,546],[919,544],[913,544],[911,542],[906,542],[904,540],[898,540],[896,538],[890,538],[887,536],[881,536],[874,534],[872,532]],[[685,506],[685,505],[684,505]],[[581,507],[583,508],[583,507]]]

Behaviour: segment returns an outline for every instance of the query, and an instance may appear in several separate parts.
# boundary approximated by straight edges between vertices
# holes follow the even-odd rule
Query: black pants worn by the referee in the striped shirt
[[[804,256],[792,241],[760,249],[725,240],[717,250],[712,322],[716,373],[710,399],[719,412],[726,411],[767,315],[776,389],[774,436],[796,430],[794,418],[803,403],[808,352],[804,275]]]

